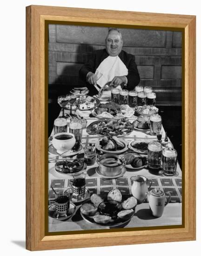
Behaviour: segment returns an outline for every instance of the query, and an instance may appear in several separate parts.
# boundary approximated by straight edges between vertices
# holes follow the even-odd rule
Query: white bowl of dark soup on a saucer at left
[[[68,149],[74,147],[75,136],[72,133],[58,133],[53,136],[53,147],[56,148],[57,153],[62,154]]]

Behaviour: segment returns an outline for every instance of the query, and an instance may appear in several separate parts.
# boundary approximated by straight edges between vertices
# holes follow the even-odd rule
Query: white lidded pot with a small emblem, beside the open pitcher
[[[168,201],[166,202],[166,195],[168,195]],[[149,207],[152,211],[152,215],[155,217],[161,217],[165,206],[170,202],[170,192],[164,193],[160,189],[152,189],[148,193]]]

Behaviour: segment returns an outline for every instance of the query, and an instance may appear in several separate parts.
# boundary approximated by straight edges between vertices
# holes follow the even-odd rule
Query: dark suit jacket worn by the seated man
[[[79,71],[79,76],[80,79],[84,82],[87,83],[87,87],[89,88],[90,92],[93,90],[92,94],[95,93],[97,94],[97,90],[92,88],[92,85],[90,85],[87,82],[87,73],[89,71],[95,73],[97,67],[99,67],[100,63],[106,59],[109,55],[107,54],[106,49],[103,50],[96,50],[93,52],[92,57],[85,63]],[[137,65],[135,63],[135,56],[132,54],[127,54],[125,51],[121,51],[119,54],[119,57],[121,61],[125,64],[125,66],[128,69],[128,74],[127,74],[127,89],[128,90],[133,90],[136,85],[139,84],[140,82],[140,75],[138,73]],[[95,89],[95,91],[94,91]]]

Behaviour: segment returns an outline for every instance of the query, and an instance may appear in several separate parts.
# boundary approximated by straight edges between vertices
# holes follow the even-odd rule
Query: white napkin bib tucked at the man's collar
[[[97,67],[95,74],[97,75],[97,84],[102,88],[108,82],[111,82],[114,76],[127,75],[128,70],[119,56],[108,56]],[[97,86],[95,88],[98,91],[100,90]],[[121,86],[119,85],[117,88],[121,89]],[[111,96],[111,91],[104,91],[103,95]]]

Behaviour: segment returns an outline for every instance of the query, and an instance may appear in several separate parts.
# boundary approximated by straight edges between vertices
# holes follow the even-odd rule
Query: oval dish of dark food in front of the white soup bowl
[[[84,159],[76,158],[72,161],[58,161],[55,163],[55,171],[66,175],[79,175],[87,168]]]

